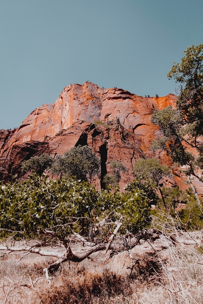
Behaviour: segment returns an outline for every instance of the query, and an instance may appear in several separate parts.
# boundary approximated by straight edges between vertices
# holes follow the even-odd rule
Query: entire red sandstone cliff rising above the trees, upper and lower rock
[[[78,144],[92,146],[101,160],[101,177],[118,160],[129,168],[121,186],[133,179],[134,162],[150,156],[155,109],[174,106],[176,96],[140,97],[122,89],[101,89],[85,82],[65,87],[54,104],[30,113],[18,129],[0,134],[0,167],[5,178],[20,174],[21,163],[42,153],[63,154]],[[161,156],[164,159],[164,155]],[[168,158],[164,162],[170,162]],[[96,181],[98,183],[98,181]]]

